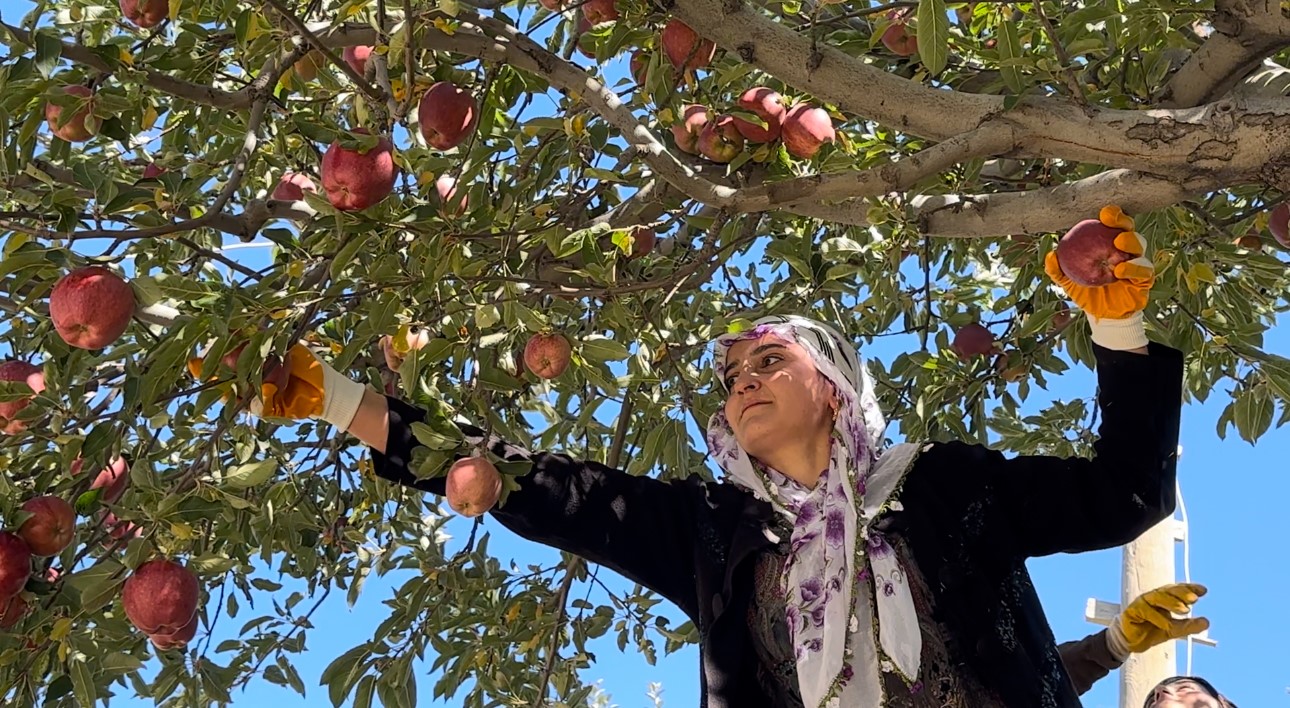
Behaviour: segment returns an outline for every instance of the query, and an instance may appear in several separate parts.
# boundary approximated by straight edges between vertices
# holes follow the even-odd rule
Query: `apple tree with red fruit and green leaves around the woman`
[[[1080,454],[1090,400],[1022,414],[1091,365],[1042,255],[1118,204],[1157,266],[1149,334],[1229,398],[1215,435],[1290,419],[1263,348],[1290,285],[1277,3],[13,6],[6,704],[304,691],[311,607],[393,570],[417,573],[333,658],[335,703],[412,705],[428,665],[468,705],[582,704],[588,641],[695,640],[644,589],[579,601],[578,558],[502,562],[486,521],[448,548],[440,500],[353,438],[248,415],[298,340],[432,410],[427,475],[453,415],[711,475],[704,344],[789,311],[907,343],[872,362],[902,436]],[[534,335],[570,346],[553,378],[521,365]]]

